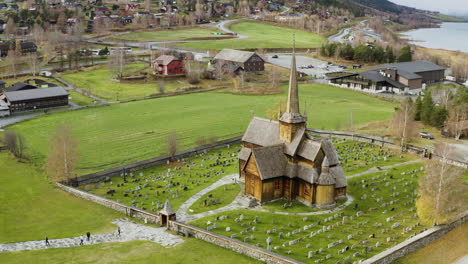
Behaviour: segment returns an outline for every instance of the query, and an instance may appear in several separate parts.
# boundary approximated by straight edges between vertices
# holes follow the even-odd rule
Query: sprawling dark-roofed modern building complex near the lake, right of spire
[[[364,92],[403,93],[445,78],[445,68],[429,61],[390,63],[373,68],[366,72],[331,74],[327,79],[331,85]]]

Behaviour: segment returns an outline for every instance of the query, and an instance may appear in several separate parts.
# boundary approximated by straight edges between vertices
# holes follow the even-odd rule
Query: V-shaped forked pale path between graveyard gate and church
[[[233,183],[238,178],[239,178],[239,174],[237,174],[237,173],[226,175],[223,178],[219,179],[217,182],[213,183],[212,185],[206,187],[205,189],[199,191],[197,194],[190,197],[190,199],[188,199],[182,205],[179,206],[179,210],[177,210],[177,221],[187,223],[189,221],[192,221],[192,220],[195,220],[195,219],[198,219],[198,218],[201,218],[201,217],[205,217],[205,216],[208,216],[208,215],[211,215],[211,214],[241,208],[241,206],[244,203],[238,201],[237,198],[239,198],[239,196],[237,196],[237,198],[234,200],[234,202],[232,202],[231,204],[229,204],[227,206],[224,206],[222,208],[218,208],[216,210],[212,210],[212,211],[208,211],[208,212],[204,212],[204,213],[199,213],[199,214],[194,214],[194,215],[191,215],[191,214],[187,213],[190,206],[192,206],[192,204],[195,203],[198,199],[200,199],[203,195],[205,195],[206,193],[218,188],[219,186],[222,186],[222,185],[225,185],[225,184],[228,184],[228,183]],[[248,203],[247,203],[247,205],[248,205]],[[222,210],[222,209],[224,209],[224,210]]]

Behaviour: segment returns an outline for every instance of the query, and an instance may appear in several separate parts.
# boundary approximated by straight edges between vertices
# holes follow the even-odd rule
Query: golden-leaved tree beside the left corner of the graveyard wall
[[[55,129],[50,141],[47,174],[54,181],[70,183],[78,160],[78,142],[73,137],[70,127],[65,124]]]

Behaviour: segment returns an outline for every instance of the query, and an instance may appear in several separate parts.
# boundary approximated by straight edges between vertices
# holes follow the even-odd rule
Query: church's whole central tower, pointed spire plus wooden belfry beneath
[[[296,52],[293,45],[291,58],[291,75],[289,77],[288,103],[286,112],[281,116],[279,123],[280,139],[290,143],[300,128],[306,127],[307,118],[299,112],[299,90],[297,87]]]

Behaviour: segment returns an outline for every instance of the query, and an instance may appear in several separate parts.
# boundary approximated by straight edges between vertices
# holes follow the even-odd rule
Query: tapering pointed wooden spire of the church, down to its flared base
[[[306,121],[304,116],[299,112],[299,89],[297,87],[297,70],[296,70],[296,40],[293,36],[293,54],[291,58],[291,74],[289,77],[288,103],[286,112],[280,119],[286,123],[303,123]]]

